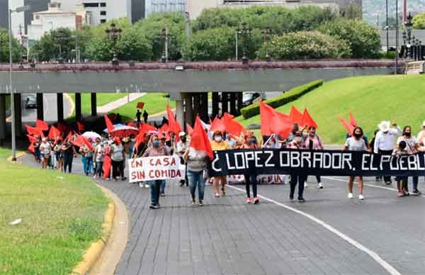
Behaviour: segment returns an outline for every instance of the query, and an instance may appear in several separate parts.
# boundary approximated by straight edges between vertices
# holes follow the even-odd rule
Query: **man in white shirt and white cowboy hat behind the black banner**
[[[379,123],[379,132],[375,136],[375,146],[373,151],[375,154],[391,155],[395,147],[396,138],[402,134],[402,129],[397,123],[392,123],[395,128],[390,128],[390,121],[382,121]],[[391,176],[384,176],[385,184],[391,184]]]

